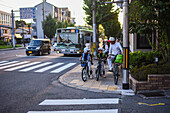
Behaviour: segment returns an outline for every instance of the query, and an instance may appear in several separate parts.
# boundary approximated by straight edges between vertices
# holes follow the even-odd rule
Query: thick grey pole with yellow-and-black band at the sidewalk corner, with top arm
[[[112,2],[100,3],[116,3],[123,4],[123,89],[129,89],[129,0],[113,0]]]

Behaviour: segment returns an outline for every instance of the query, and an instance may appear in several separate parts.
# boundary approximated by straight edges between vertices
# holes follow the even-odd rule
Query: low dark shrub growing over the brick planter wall
[[[135,66],[131,70],[131,75],[139,81],[146,81],[148,74],[170,74],[170,62],[164,62],[162,64],[149,64],[138,68]]]

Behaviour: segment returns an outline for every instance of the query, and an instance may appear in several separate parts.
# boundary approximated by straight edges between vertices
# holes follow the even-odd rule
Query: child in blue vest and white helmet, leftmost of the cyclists
[[[90,78],[92,79],[93,78],[92,68],[91,68],[92,57],[91,57],[89,52],[90,52],[89,48],[87,48],[87,47],[84,48],[84,53],[81,55],[80,61],[88,61],[88,67],[89,67],[89,70],[90,70]]]

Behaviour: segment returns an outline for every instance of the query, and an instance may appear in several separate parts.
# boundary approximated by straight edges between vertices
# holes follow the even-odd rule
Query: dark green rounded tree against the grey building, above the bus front
[[[49,14],[48,16],[46,16],[44,34],[51,39],[53,38],[55,33],[56,33],[56,20],[52,18],[51,14]]]

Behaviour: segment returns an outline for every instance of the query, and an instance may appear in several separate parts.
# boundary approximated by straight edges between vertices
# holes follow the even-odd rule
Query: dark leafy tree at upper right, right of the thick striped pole
[[[135,9],[135,10],[134,10]],[[162,53],[163,59],[168,60],[170,51],[170,1],[169,0],[139,0],[130,4],[130,27],[131,32],[146,34],[158,34],[158,46],[151,43],[151,46]]]

